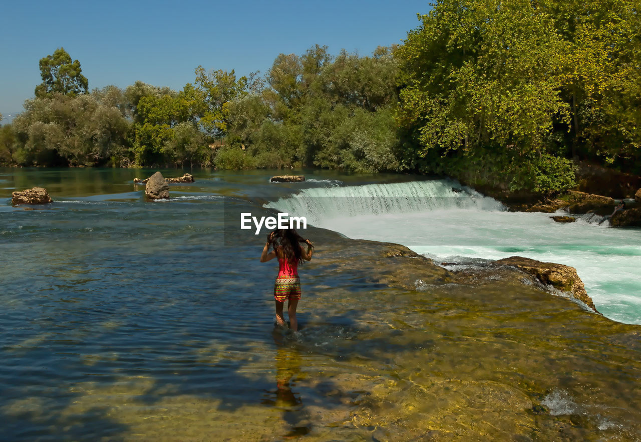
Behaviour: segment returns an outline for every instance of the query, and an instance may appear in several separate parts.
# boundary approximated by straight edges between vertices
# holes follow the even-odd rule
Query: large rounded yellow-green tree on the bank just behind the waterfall
[[[567,44],[550,15],[529,0],[440,0],[421,20],[396,55],[398,120],[419,141],[408,150],[428,159],[422,171],[512,190],[558,187],[538,185],[533,172],[552,170],[538,167],[546,153],[565,155],[550,140],[570,121],[560,88]],[[571,182],[569,163],[545,164]]]

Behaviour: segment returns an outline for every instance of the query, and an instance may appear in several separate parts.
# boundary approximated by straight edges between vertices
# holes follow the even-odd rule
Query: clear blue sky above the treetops
[[[89,88],[140,80],[176,90],[194,69],[264,74],[279,53],[315,43],[370,54],[401,43],[429,1],[3,1],[0,113],[22,111],[40,83],[38,61],[64,47]]]

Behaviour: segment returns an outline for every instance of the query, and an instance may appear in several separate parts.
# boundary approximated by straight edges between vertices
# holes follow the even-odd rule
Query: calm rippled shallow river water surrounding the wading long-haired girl
[[[224,228],[222,196],[259,210],[296,185],[203,172],[144,203],[131,180],[145,173],[0,175],[2,198],[44,185],[56,200],[0,210],[3,438],[641,437],[636,329],[594,317],[594,333],[592,315],[511,274],[412,271],[418,290],[388,288],[403,269],[369,267],[378,249],[312,229],[303,328],[288,333],[273,325],[263,235]]]

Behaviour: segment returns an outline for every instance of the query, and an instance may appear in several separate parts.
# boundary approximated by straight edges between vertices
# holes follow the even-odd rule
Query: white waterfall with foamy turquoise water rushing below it
[[[561,224],[551,214],[507,212],[449,180],[305,189],[268,206],[351,238],[404,244],[436,262],[519,255],[570,265],[600,312],[641,324],[641,230],[594,217]]]

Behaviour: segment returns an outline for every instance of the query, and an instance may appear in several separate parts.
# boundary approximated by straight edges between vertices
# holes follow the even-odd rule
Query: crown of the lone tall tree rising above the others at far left
[[[53,93],[62,93],[75,97],[87,93],[88,80],[82,74],[80,62],[71,60],[64,48],[59,47],[53,55],[40,59],[40,77],[42,83],[36,86],[36,97],[47,97]]]

